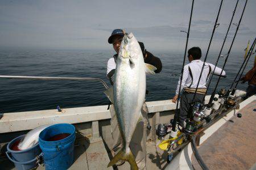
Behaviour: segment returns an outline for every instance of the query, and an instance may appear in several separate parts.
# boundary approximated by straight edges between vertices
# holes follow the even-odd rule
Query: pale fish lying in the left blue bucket
[[[51,125],[43,125],[34,128],[33,130],[29,131],[23,139],[20,140],[18,144],[19,150],[26,150],[27,148],[30,148],[32,146],[35,146],[38,144],[38,138],[40,132],[42,132],[45,128]]]

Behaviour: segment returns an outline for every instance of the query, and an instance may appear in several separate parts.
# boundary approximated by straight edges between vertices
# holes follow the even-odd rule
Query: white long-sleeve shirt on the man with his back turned
[[[201,60],[193,60],[191,61],[191,63],[184,66],[180,92],[182,92],[183,88],[196,88],[199,77],[200,77],[201,69],[203,67],[203,63],[204,62]],[[210,73],[213,73],[214,67],[215,66],[213,64],[205,63],[198,88],[207,88],[207,81],[208,81],[208,78],[210,77]],[[221,70],[222,70],[221,68],[216,67],[214,74],[220,75]],[[225,74],[226,74],[225,71],[223,71],[222,76],[225,76]],[[176,95],[179,94],[179,88],[180,88],[180,78],[177,84]]]

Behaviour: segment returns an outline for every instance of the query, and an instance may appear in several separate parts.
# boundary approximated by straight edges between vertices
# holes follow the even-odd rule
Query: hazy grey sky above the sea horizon
[[[211,50],[220,49],[237,0],[224,0]],[[221,0],[195,0],[189,47],[207,48]],[[184,50],[192,0],[23,1],[0,0],[0,48],[109,49],[114,28],[133,32],[149,51]],[[245,0],[238,2],[234,23]],[[256,1],[247,2],[233,50],[256,35]],[[230,28],[228,43],[236,26]],[[151,49],[151,50],[150,50]]]

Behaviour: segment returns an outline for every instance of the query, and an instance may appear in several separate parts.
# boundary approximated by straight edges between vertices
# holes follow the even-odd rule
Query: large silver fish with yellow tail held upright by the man
[[[134,35],[125,35],[118,53],[112,99],[124,147],[113,157],[108,167],[118,160],[125,160],[132,169],[138,169],[129,145],[137,123],[142,120],[141,109],[146,93],[145,72],[154,74],[155,69],[150,64],[145,67],[141,47]]]

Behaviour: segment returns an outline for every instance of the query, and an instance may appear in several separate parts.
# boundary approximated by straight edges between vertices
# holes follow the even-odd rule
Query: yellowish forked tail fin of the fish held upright
[[[124,148],[120,150],[117,155],[113,157],[113,159],[109,162],[108,167],[113,166],[116,164],[119,160],[128,161],[131,169],[138,170],[137,163],[135,161],[135,158],[133,156],[133,153],[131,153],[131,150],[129,149],[129,152],[125,152]]]

